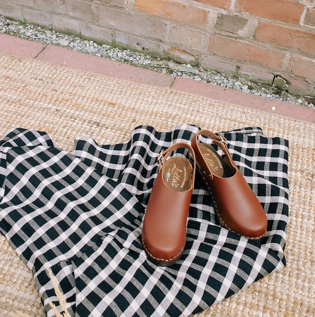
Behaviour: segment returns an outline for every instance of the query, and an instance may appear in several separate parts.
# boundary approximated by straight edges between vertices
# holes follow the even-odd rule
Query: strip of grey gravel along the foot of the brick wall
[[[178,64],[174,61],[165,61],[160,57],[149,56],[144,53],[134,52],[129,49],[114,48],[93,41],[87,41],[77,36],[57,33],[34,25],[19,23],[0,16],[0,33],[10,34],[27,40],[43,44],[53,44],[66,47],[74,51],[99,56],[102,58],[119,61],[130,65],[147,68],[162,74],[177,77],[182,76],[196,81],[207,82],[216,86],[227,87],[249,94],[260,95],[266,98],[283,100],[289,103],[315,109],[315,98],[289,94],[285,90],[258,84],[246,79],[220,74],[216,71],[207,71],[193,67],[190,64]],[[281,81],[281,79],[277,79]],[[283,81],[279,83],[284,84]]]

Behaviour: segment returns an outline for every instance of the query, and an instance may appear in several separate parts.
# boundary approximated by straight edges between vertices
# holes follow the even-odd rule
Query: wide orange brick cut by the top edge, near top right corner
[[[237,0],[236,9],[270,20],[299,24],[304,5],[285,0]]]

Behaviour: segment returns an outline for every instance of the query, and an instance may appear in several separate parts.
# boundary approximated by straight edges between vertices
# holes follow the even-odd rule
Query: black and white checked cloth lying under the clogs
[[[148,261],[141,230],[157,155],[199,129],[138,126],[126,143],[78,138],[73,153],[35,130],[17,128],[0,140],[0,230],[32,270],[47,316],[50,300],[60,307],[46,266],[69,313],[82,317],[188,316],[285,266],[288,141],[258,127],[221,135],[267,213],[262,241],[221,228],[196,175],[180,260]]]

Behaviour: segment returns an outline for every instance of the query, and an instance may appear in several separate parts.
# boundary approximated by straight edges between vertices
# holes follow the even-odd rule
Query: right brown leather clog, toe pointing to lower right
[[[198,143],[198,135],[211,138],[225,153],[224,159],[209,144]],[[247,239],[262,238],[267,230],[266,213],[233,162],[226,139],[200,130],[191,144],[197,169],[209,190],[220,225]]]

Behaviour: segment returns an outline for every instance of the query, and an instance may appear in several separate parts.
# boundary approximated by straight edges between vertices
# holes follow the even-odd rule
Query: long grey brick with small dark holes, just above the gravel
[[[131,46],[141,51],[150,51],[151,53],[162,54],[164,47],[162,43],[142,39],[136,36],[115,32],[115,41],[123,45]]]

